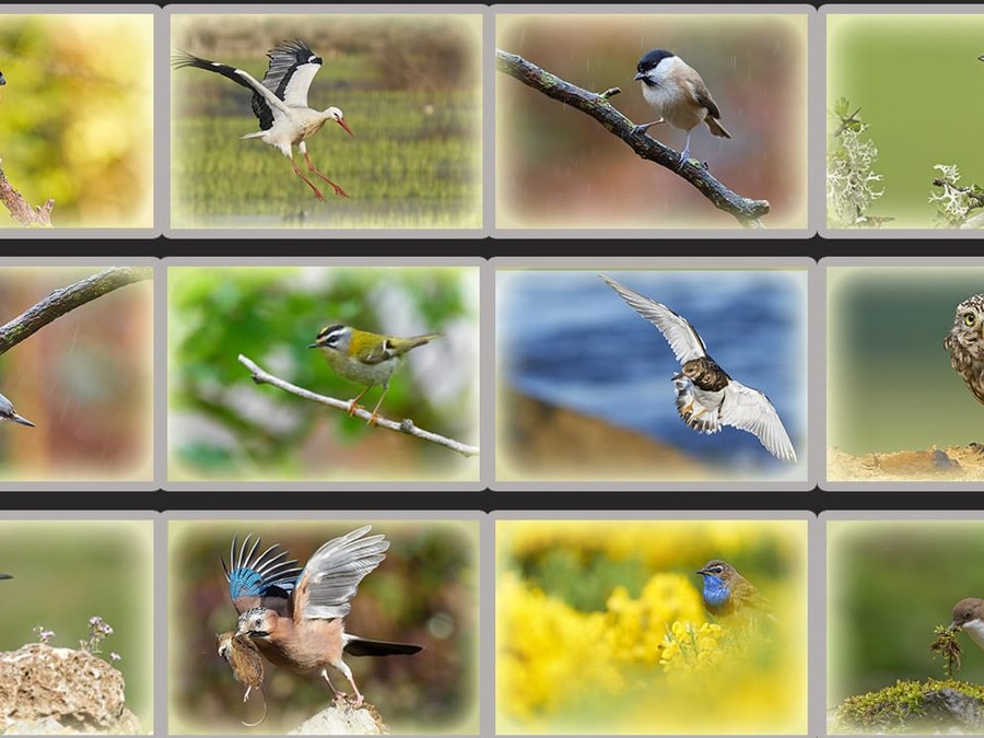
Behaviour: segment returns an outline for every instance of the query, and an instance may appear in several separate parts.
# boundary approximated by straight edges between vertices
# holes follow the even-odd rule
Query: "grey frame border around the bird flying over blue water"
[[[818,331],[817,320],[822,317],[823,313],[823,302],[818,302],[825,298],[825,291],[821,290],[821,284],[819,283],[820,273],[817,263],[810,257],[728,257],[728,258],[719,258],[714,259],[713,263],[708,262],[708,260],[702,261],[699,258],[693,257],[585,257],[585,258],[567,258],[563,260],[563,263],[559,263],[555,258],[551,257],[527,257],[527,258],[517,258],[517,257],[494,257],[490,261],[490,268],[492,270],[490,274],[490,280],[492,284],[490,285],[491,294],[493,295],[493,306],[489,309],[490,315],[483,317],[482,321],[482,333],[483,341],[485,338],[492,341],[491,345],[485,347],[483,343],[483,355],[491,358],[491,362],[484,364],[484,368],[487,374],[483,375],[483,380],[485,385],[483,385],[482,396],[484,398],[483,401],[488,402],[482,406],[482,418],[492,417],[492,420],[495,419],[495,406],[496,406],[496,393],[497,393],[497,376],[496,376],[496,366],[495,366],[495,339],[496,339],[496,329],[495,329],[495,313],[497,309],[497,295],[495,293],[495,272],[500,269],[523,269],[523,270],[544,270],[544,271],[575,271],[575,270],[590,270],[590,269],[599,269],[599,270],[658,270],[658,269],[692,269],[694,271],[700,270],[728,270],[728,269],[748,269],[748,270],[766,270],[766,269],[776,269],[776,270],[796,270],[796,269],[805,269],[807,272],[807,316],[806,316],[806,331],[807,331],[807,356],[805,360],[806,366],[806,394],[807,394],[807,420],[806,420],[806,431],[807,431],[807,440],[806,440],[806,449],[807,449],[807,465],[806,465],[806,477],[801,480],[793,480],[793,479],[783,479],[783,480],[749,480],[749,481],[715,481],[715,480],[700,480],[700,481],[634,481],[634,480],[608,480],[608,481],[542,481],[542,480],[520,480],[520,481],[500,481],[496,475],[495,467],[495,457],[492,458],[493,467],[492,467],[492,481],[490,487],[494,491],[528,491],[528,490],[544,490],[544,491],[554,491],[554,492],[590,492],[590,491],[604,491],[610,490],[612,487],[617,487],[620,490],[624,490],[626,492],[649,492],[649,491],[678,491],[681,489],[684,490],[694,490],[694,491],[713,491],[713,490],[722,490],[722,491],[733,491],[733,492],[751,492],[751,491],[775,491],[775,492],[806,492],[813,490],[817,487],[818,481],[820,480],[820,475],[825,469],[827,455],[825,450],[818,447],[818,440],[825,437],[822,435],[825,430],[825,419],[821,414],[824,410],[824,406],[822,405],[824,398],[818,397],[817,391],[815,390],[813,384],[817,382],[817,378],[821,376],[818,373],[818,365],[825,365],[825,359],[823,359],[823,363],[818,364],[821,361],[821,358],[825,356],[825,344],[823,341],[823,333]],[[492,326],[488,327],[485,323],[485,318],[491,319]],[[491,429],[491,433],[493,438],[495,437],[496,429],[493,426]],[[484,441],[484,438],[483,438]],[[488,442],[485,442],[488,445]],[[494,446],[492,447],[495,450]],[[824,450],[823,454],[818,453],[819,450]],[[482,452],[483,454],[485,452]],[[496,455],[497,456],[497,455]]]

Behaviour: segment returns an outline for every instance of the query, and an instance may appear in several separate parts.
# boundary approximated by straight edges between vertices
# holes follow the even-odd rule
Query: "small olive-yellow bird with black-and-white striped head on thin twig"
[[[373,387],[383,385],[383,394],[370,417],[370,425],[378,419],[379,406],[389,389],[389,378],[400,365],[403,354],[419,345],[430,343],[441,333],[426,333],[412,338],[379,336],[351,326],[332,325],[318,332],[317,340],[308,349],[321,349],[328,365],[349,382],[364,385],[359,395],[349,401],[349,415],[360,409],[359,400]]]

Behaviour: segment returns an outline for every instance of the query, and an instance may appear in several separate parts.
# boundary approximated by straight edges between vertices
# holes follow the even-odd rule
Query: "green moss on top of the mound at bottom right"
[[[834,713],[831,733],[912,733],[918,729],[925,715],[927,694],[950,689],[984,701],[984,687],[954,679],[897,681],[877,692],[847,698]]]

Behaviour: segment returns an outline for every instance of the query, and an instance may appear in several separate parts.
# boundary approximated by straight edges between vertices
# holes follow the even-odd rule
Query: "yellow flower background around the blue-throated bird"
[[[497,733],[806,733],[806,520],[499,520],[495,534]],[[710,622],[695,571],[711,559],[777,622]]]

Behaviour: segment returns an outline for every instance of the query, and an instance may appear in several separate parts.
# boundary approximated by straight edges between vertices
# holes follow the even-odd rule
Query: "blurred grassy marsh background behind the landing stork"
[[[308,141],[312,162],[351,199],[318,202],[258,131],[250,94],[218,74],[172,73],[173,224],[480,227],[480,16],[173,17],[173,46],[262,79],[258,49],[303,37],[324,57],[312,107],[343,110]],[[295,159],[306,166],[296,150]]]

